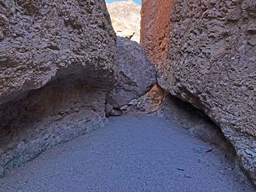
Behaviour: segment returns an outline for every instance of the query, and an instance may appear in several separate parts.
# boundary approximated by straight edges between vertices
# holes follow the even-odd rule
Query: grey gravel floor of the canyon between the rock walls
[[[197,146],[211,152],[194,152]],[[111,117],[0,179],[1,192],[255,191],[224,154],[162,117]]]

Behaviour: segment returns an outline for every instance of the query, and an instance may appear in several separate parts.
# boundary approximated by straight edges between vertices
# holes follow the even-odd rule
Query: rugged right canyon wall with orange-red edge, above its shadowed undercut
[[[160,13],[166,22],[160,22]],[[142,5],[142,46],[157,65],[159,85],[221,127],[254,184],[255,23],[252,0],[149,0]]]

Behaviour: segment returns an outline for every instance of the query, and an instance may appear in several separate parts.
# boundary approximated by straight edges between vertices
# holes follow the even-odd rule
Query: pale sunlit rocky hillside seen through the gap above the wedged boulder
[[[141,6],[131,0],[107,4],[112,26],[118,36],[139,43],[141,30]]]

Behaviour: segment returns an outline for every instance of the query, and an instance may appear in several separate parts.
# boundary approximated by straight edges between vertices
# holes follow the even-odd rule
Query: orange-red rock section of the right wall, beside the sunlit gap
[[[141,45],[156,67],[166,59],[171,0],[142,1]]]

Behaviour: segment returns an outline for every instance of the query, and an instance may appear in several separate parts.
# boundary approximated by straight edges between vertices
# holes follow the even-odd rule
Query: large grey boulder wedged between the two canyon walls
[[[114,108],[147,93],[156,82],[155,66],[135,41],[117,37],[118,81],[107,102]]]

